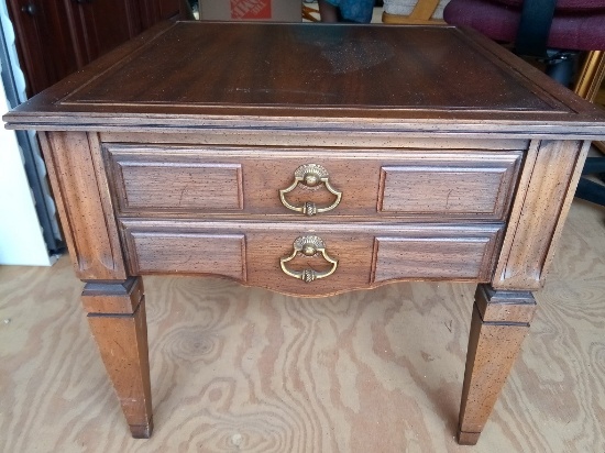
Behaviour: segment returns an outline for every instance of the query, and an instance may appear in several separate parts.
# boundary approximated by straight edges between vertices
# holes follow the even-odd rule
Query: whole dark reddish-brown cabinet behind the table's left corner
[[[183,14],[180,0],[8,0],[33,96],[155,23]]]

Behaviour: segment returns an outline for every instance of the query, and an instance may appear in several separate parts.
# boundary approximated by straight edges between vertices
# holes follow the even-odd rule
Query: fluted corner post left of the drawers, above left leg
[[[76,275],[125,279],[127,272],[96,134],[40,133]]]

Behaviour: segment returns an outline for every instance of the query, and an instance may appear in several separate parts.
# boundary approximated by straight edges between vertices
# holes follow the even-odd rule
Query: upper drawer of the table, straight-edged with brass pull
[[[131,216],[503,220],[521,151],[342,151],[106,144]]]

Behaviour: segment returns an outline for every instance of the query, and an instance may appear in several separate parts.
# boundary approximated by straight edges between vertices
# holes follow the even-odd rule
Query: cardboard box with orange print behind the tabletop
[[[202,21],[300,22],[300,0],[200,0]]]

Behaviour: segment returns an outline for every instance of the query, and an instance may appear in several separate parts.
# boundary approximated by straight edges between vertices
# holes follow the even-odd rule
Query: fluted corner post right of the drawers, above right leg
[[[590,142],[580,141],[531,144],[492,280],[494,288],[542,286],[588,147]]]

